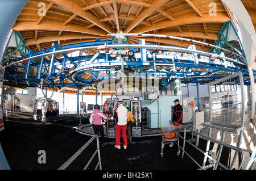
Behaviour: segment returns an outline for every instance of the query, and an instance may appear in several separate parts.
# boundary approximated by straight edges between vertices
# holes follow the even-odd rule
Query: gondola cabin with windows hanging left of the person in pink
[[[59,117],[59,103],[49,98],[39,98],[34,101],[33,119],[48,122]]]

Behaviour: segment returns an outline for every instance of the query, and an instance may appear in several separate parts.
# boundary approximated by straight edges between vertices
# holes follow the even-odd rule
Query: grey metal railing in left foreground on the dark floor
[[[86,170],[88,168],[88,166],[90,165],[90,163],[92,162],[93,158],[96,156],[97,153],[98,153],[98,163],[97,163],[97,165],[95,167],[95,170],[98,169],[98,166],[100,166],[100,170],[102,170],[101,155],[100,155],[100,142],[99,142],[97,134],[95,134],[92,138],[90,138],[90,140],[88,142],[86,142],[86,144],[84,146],[82,146],[82,148],[80,148],[71,158],[69,158],[67,162],[65,162],[61,167],[59,167],[58,170],[65,170],[65,169],[67,169],[67,167],[69,165],[71,165],[71,163],[73,161],[75,161],[75,159],[82,153],[82,151],[84,151],[93,142],[93,140],[95,140],[95,139],[97,140],[97,149],[93,153],[92,157],[90,158],[90,160],[88,161],[86,166],[84,167],[84,170]]]

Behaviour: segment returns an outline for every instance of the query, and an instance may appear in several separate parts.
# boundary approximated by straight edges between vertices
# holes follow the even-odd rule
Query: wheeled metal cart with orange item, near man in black
[[[179,134],[182,125],[171,126],[171,127],[162,127],[162,152],[161,157],[163,157],[163,148],[165,144],[170,144],[170,147],[174,146],[174,141],[178,143],[177,155],[180,155],[180,143],[179,143]]]

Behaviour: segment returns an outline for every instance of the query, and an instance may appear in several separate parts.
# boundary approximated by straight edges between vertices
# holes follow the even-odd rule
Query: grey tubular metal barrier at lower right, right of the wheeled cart
[[[181,124],[179,124],[179,123],[176,123],[176,124],[177,124],[177,125],[181,125]],[[209,136],[207,136],[207,135],[205,135],[205,134],[203,134],[203,133],[197,132],[197,131],[195,131],[195,130],[193,130],[193,129],[191,129],[191,128],[188,128],[188,127],[186,127],[185,125],[183,125],[183,128],[184,128],[184,137],[182,137],[182,136],[180,135],[180,138],[183,139],[183,147],[181,148],[181,146],[180,146],[180,149],[182,150],[182,156],[181,156],[182,158],[184,157],[184,153],[187,154],[188,157],[191,158],[192,161],[195,162],[196,165],[199,166],[200,169],[203,169],[203,170],[209,169],[210,167],[213,167],[213,169],[216,170],[216,169],[217,169],[217,166],[220,166],[220,167],[222,167],[223,169],[226,169],[226,170],[229,170],[229,169],[231,170],[231,169],[233,169],[234,162],[236,161],[236,158],[237,158],[237,157],[236,157],[236,156],[233,157],[232,164],[230,165],[230,167],[226,167],[225,165],[223,165],[222,163],[220,163],[222,148],[223,148],[223,146],[225,146],[226,148],[231,149],[231,150],[234,150],[234,151],[236,151],[236,153],[240,153],[240,154],[241,154],[241,160],[240,160],[240,163],[239,163],[239,165],[238,165],[238,170],[241,169],[243,160],[244,160],[244,158],[245,158],[245,155],[244,155],[244,153],[243,153],[243,150],[240,149],[240,148],[234,147],[234,146],[232,146],[232,145],[228,145],[228,144],[226,144],[225,142],[222,142],[222,141],[224,140],[225,134],[222,133],[222,140],[219,141],[219,140],[216,140],[216,139],[210,137],[210,133],[211,133],[211,129],[212,129],[212,128],[209,128],[209,134],[208,134]],[[188,140],[186,140],[186,131],[187,131],[187,130],[192,131],[192,133],[196,133],[196,138],[199,138],[198,136],[201,136],[201,137],[204,137],[204,138],[207,139],[207,148],[205,149],[205,151],[203,151],[203,150],[201,150],[201,149],[199,149],[199,148],[197,147],[197,142],[198,142],[197,140],[196,140],[196,145],[193,145],[191,142],[189,142]],[[212,141],[212,142],[214,142],[214,143],[220,145],[220,146],[219,146],[219,149],[218,149],[218,153],[217,153],[217,151],[216,151],[216,153],[213,154],[212,151],[209,150],[209,148],[210,148],[210,141]],[[189,145],[193,146],[193,148],[199,150],[202,154],[204,154],[204,161],[203,161],[202,166],[200,165],[200,163],[196,162],[196,160],[193,159],[192,156],[187,153],[187,151],[185,151],[185,142],[187,142]],[[209,154],[211,154],[211,155],[209,155]],[[235,154],[235,155],[236,155],[236,154]],[[207,158],[209,158],[209,163],[210,163],[209,165],[205,165],[205,164],[207,163]]]

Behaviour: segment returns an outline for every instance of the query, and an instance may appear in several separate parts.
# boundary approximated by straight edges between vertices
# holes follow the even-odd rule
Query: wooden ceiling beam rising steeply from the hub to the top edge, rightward
[[[114,1],[114,0],[113,0]],[[136,18],[134,22],[131,22],[127,28],[125,28],[125,33],[129,33],[131,30],[133,30],[134,27],[136,27],[139,23],[141,23],[148,15],[150,15],[151,12],[159,9],[159,7],[163,6],[164,3],[168,2],[170,0],[158,0],[153,1],[151,3],[151,6],[147,9],[144,9]]]

